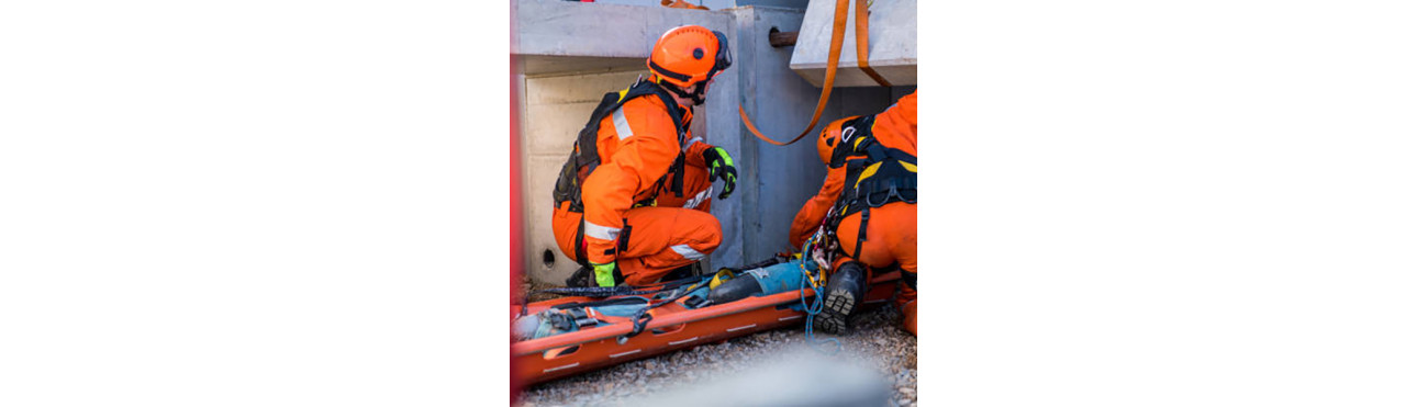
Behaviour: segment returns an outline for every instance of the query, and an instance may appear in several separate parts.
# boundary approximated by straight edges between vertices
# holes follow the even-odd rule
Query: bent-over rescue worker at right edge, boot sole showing
[[[917,336],[917,91],[880,114],[833,121],[817,143],[828,176],[788,230],[794,247],[820,227],[837,241],[824,311],[814,326],[845,333],[871,270],[897,266],[902,274],[897,306],[902,326]]]

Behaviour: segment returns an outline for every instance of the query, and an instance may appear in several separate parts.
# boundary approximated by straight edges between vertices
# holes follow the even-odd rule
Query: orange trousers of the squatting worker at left
[[[705,179],[707,181],[708,179]],[[551,230],[560,251],[575,258],[580,214],[555,208]],[[677,207],[637,207],[625,211],[630,243],[615,254],[631,286],[651,284],[671,270],[714,253],[724,234],[713,214]]]

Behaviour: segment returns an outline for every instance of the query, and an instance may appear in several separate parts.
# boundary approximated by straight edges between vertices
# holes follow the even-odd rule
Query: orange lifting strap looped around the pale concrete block
[[[868,66],[868,3],[864,0],[855,0],[855,3],[857,33],[854,39],[858,46],[858,67],[878,84],[890,87],[892,84]],[[738,117],[744,120],[744,127],[748,127],[750,133],[754,133],[758,139],[768,141],[768,144],[788,146],[798,143],[798,140],[804,136],[808,136],[808,131],[813,131],[813,127],[818,124],[818,119],[823,117],[823,109],[828,104],[828,94],[833,93],[833,80],[838,76],[838,59],[843,57],[843,37],[848,27],[848,0],[837,0],[833,13],[833,31],[837,34],[828,39],[828,67],[824,70],[823,76],[823,93],[818,94],[818,107],[813,110],[813,119],[808,120],[808,127],[804,127],[803,133],[798,133],[794,140],[788,140],[787,143],[774,141],[774,139],[768,139],[768,136],[764,136],[763,131],[758,131],[758,127],[754,127],[754,121],[748,120],[748,113],[744,113],[744,104],[738,104]]]

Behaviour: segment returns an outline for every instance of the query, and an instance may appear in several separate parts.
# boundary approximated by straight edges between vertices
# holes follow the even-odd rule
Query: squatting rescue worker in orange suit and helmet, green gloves
[[[567,286],[643,286],[718,248],[708,213],[714,180],[734,191],[724,149],[688,134],[693,107],[733,64],[727,37],[700,26],[665,31],[645,66],[651,77],[607,93],[555,183],[551,228],[581,270]]]

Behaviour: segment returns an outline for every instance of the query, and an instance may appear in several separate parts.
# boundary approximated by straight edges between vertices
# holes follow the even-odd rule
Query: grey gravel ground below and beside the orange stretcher
[[[917,406],[917,337],[901,328],[892,304],[855,314],[853,327],[838,337],[843,348],[837,357],[885,374],[892,387],[888,406]],[[815,331],[815,337],[828,336]],[[521,393],[517,406],[621,406],[805,350],[804,326],[798,324],[537,384]]]

